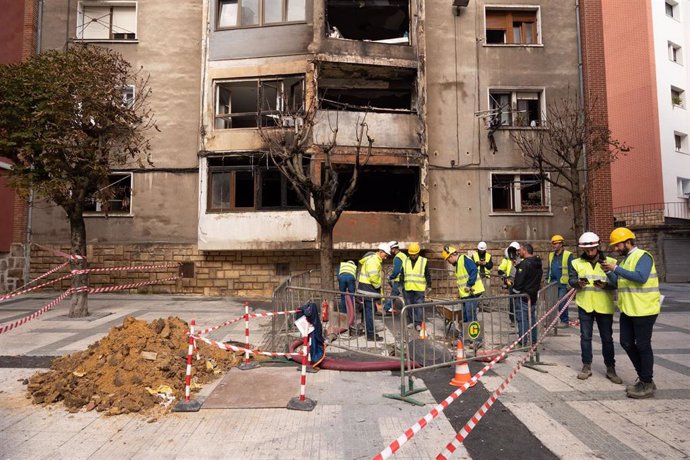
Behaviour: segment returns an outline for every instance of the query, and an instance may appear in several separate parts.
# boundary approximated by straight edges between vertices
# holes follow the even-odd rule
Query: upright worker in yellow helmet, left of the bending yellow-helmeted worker
[[[419,243],[410,244],[407,250],[408,257],[403,264],[401,282],[406,305],[424,303],[426,291],[431,287],[428,260],[419,255],[420,251]],[[421,307],[408,309],[407,319],[418,331],[421,330],[424,321],[422,313]]]

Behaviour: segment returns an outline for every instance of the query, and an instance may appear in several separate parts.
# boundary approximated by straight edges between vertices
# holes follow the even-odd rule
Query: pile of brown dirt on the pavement
[[[184,398],[188,330],[175,317],[147,323],[128,316],[87,350],[56,358],[51,371],[33,375],[29,397],[35,404],[62,401],[71,412],[85,408],[108,415],[169,406],[172,396]],[[193,359],[193,390],[242,361],[241,354],[200,346],[202,359]]]

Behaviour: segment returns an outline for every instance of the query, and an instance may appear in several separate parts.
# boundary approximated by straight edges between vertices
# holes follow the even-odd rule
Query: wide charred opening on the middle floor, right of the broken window
[[[323,63],[318,75],[322,109],[410,112],[416,105],[416,69]]]

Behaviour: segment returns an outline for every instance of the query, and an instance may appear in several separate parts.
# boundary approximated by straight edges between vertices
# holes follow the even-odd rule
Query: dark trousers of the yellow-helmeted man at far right
[[[646,383],[654,377],[652,328],[657,316],[628,316],[621,312],[621,346],[635,366],[640,381]]]

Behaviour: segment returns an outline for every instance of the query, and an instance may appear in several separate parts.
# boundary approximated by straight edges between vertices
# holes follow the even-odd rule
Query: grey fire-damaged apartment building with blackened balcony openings
[[[433,256],[448,242],[497,253],[572,237],[565,197],[524,166],[510,133],[541,129],[549,101],[578,88],[575,0],[41,4],[42,49],[109,46],[151,75],[154,167],[115,171],[110,214],[94,202],[86,220],[95,265],[194,263],[194,278],[154,292],[270,295],[318,267],[319,228],[260,135],[298,130],[312,109],[314,145],[337,128],[343,178],[362,121],[374,139],[334,230],[336,261],[389,240]],[[491,132],[488,113],[499,114]],[[316,151],[304,168],[319,181]],[[32,225],[35,242],[68,247],[58,209],[34,206]],[[32,273],[55,262],[34,250]]]

